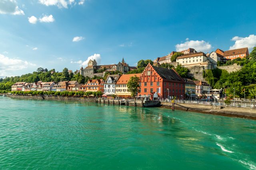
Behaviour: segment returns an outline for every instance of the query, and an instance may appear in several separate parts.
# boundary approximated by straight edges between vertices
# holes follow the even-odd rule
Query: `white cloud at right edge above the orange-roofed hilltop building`
[[[235,36],[231,41],[235,41],[235,44],[229,47],[230,50],[248,47],[248,50],[250,51],[256,46],[256,35],[252,34],[249,35],[249,37]]]

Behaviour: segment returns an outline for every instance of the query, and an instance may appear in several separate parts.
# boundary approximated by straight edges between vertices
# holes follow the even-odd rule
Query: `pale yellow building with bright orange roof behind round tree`
[[[128,90],[127,83],[130,80],[130,77],[132,76],[140,77],[140,75],[141,75],[140,73],[139,74],[122,74],[116,82],[116,96],[120,96],[120,97],[131,96],[131,92],[129,92]]]

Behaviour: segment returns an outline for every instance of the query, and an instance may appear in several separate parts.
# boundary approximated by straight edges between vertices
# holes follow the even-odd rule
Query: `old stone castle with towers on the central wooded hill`
[[[83,76],[88,76],[92,78],[93,76],[100,76],[103,77],[105,72],[110,71],[120,71],[122,73],[126,73],[130,70],[137,69],[134,66],[129,66],[127,63],[125,63],[124,58],[122,59],[122,62],[119,62],[118,64],[110,64],[110,65],[97,65],[96,60],[91,60],[88,62],[88,66],[86,68],[81,67],[80,68],[80,74]]]

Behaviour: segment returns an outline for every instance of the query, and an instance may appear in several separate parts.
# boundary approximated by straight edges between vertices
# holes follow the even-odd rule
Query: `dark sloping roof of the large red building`
[[[154,70],[164,79],[182,81],[182,78],[172,69],[152,66]]]

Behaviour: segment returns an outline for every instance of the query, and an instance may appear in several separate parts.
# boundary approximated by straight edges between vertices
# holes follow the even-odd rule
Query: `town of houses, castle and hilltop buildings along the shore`
[[[97,65],[96,60],[90,60],[87,66],[84,68],[82,66],[80,70],[74,72],[75,75],[88,77],[85,83],[79,84],[78,81],[16,82],[11,88],[12,91],[24,92],[100,91],[104,97],[128,98],[131,96],[128,81],[132,76],[137,76],[140,82],[136,96],[150,100],[171,98],[219,100],[226,97],[226,89],[212,89],[210,82],[204,78],[204,72],[216,69],[217,66],[227,72],[239,70],[241,66],[234,64],[227,67],[225,63],[246,59],[248,56],[248,48],[228,51],[216,49],[207,54],[189,48],[179,52],[172,51],[164,57],[158,57],[146,63],[141,71],[138,71],[139,68],[135,66],[129,66],[124,58],[118,64],[110,65]],[[186,68],[187,75],[180,75],[177,71],[178,66]],[[68,72],[73,74],[72,70]],[[96,78],[93,79],[93,77]]]

